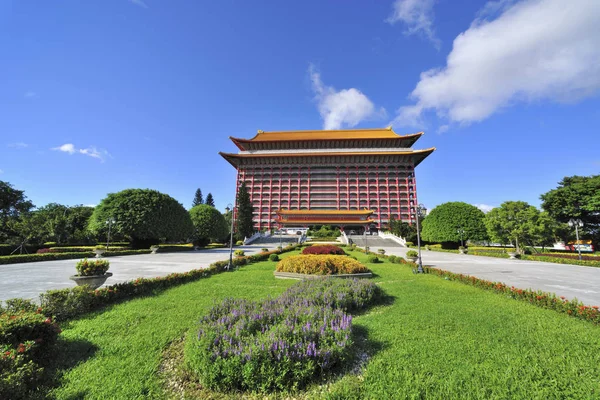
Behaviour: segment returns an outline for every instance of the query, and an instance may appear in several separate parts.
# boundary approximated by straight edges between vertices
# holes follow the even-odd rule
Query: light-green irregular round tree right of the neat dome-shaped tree
[[[545,217],[541,222],[547,223]],[[523,243],[532,244],[545,236],[540,211],[524,201],[505,201],[486,214],[485,225],[493,241],[514,243],[517,251]]]

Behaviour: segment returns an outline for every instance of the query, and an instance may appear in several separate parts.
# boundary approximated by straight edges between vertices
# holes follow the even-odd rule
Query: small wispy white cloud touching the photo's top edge
[[[396,0],[392,5],[392,15],[385,21],[392,25],[396,22],[404,23],[406,35],[424,35],[439,50],[441,42],[433,28],[434,4],[435,0]]]

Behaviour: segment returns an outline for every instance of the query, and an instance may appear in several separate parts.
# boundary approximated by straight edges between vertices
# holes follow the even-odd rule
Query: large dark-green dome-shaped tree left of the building
[[[109,218],[116,221],[111,237],[116,239],[121,235],[134,248],[148,248],[160,241],[188,240],[194,232],[189,213],[177,200],[150,189],[110,193],[94,209],[89,230],[106,237]]]

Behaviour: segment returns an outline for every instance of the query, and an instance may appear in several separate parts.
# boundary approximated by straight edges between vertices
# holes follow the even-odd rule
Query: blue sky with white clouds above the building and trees
[[[425,131],[428,208],[539,205],[600,171],[597,0],[0,0],[0,180],[223,209],[256,130]]]

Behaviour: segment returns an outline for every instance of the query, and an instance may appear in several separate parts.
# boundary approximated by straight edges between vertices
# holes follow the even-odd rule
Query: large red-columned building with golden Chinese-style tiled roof
[[[362,232],[390,216],[415,221],[415,167],[435,148],[413,150],[423,132],[391,127],[263,132],[230,139],[238,153],[219,153],[246,182],[257,230],[333,225]],[[237,192],[237,190],[236,190]]]

